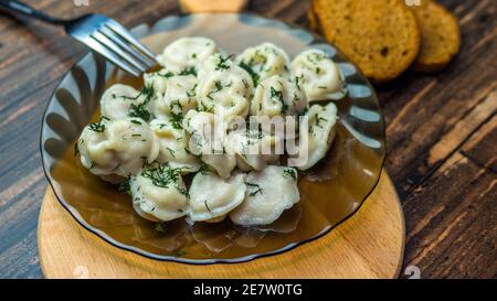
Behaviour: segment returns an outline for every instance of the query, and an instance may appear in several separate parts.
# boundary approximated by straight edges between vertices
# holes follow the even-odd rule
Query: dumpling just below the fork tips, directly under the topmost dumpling
[[[156,75],[146,79],[149,85],[157,85],[155,97],[150,103],[150,110],[157,117],[182,118],[189,110],[197,107],[194,75]]]

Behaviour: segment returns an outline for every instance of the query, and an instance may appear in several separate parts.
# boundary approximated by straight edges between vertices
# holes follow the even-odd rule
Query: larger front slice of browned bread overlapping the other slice
[[[414,13],[403,0],[314,0],[316,23],[371,80],[394,79],[420,52]]]

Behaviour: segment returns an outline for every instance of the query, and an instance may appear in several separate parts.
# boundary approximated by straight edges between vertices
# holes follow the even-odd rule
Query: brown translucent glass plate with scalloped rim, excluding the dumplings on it
[[[241,228],[225,221],[189,227],[177,219],[158,228],[134,212],[129,196],[91,174],[74,155],[74,143],[96,116],[106,86],[114,82],[136,84],[88,53],[51,96],[43,116],[41,153],[59,201],[89,232],[116,247],[158,260],[240,262],[289,250],[325,235],[350,217],[373,191],[385,153],[378,98],[358,68],[321,37],[282,21],[245,13],[168,17],[133,32],[156,53],[187,35],[212,37],[233,54],[262,42],[273,42],[290,56],[306,49],[321,49],[340,66],[348,96],[336,101],[337,138],[327,158],[299,174],[300,203],[273,225]]]

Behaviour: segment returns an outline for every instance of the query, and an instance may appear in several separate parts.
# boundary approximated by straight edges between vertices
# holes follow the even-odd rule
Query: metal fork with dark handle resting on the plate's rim
[[[73,20],[62,20],[34,10],[17,0],[0,0],[0,9],[32,17],[65,32],[93,51],[102,54],[133,76],[140,76],[156,65],[156,56],[123,25],[102,14],[84,14]]]

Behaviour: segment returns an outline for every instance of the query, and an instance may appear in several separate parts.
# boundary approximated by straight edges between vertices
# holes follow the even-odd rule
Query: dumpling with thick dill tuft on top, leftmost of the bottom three
[[[168,164],[146,165],[131,175],[133,207],[142,217],[167,222],[187,214],[188,191],[178,169]]]

